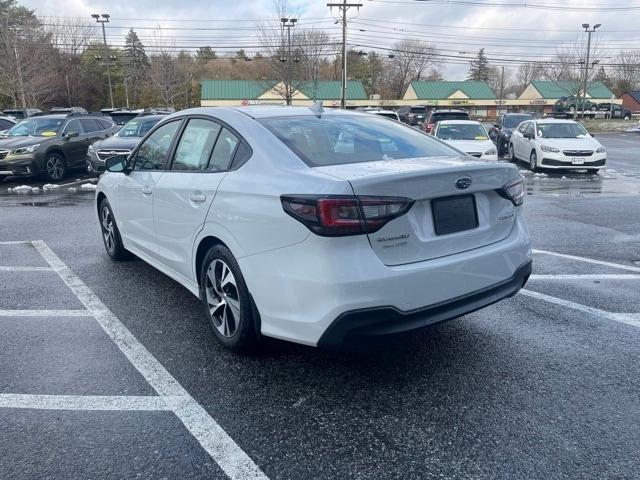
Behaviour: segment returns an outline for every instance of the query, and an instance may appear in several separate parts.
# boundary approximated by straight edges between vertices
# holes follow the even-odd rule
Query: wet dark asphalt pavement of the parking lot
[[[598,139],[597,175],[523,171],[532,293],[364,353],[275,340],[224,351],[187,290],[107,258],[93,195],[68,190],[85,180],[38,194],[0,184],[0,242],[42,240],[267,478],[634,479],[640,135]],[[0,269],[0,478],[225,478],[172,411],[92,408],[86,396],[158,392],[122,339],[79,316],[86,298],[42,250],[0,244],[0,267],[23,267]],[[7,313],[25,309],[69,316]],[[25,408],[29,395],[89,400]]]

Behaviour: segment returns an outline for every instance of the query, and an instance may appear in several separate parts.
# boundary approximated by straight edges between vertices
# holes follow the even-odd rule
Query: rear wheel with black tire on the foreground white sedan
[[[211,330],[222,346],[250,352],[258,340],[258,313],[235,257],[224,245],[212,246],[200,269],[200,299]]]

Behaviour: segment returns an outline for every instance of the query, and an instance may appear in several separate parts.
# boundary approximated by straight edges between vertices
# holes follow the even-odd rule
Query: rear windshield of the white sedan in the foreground
[[[459,155],[418,130],[379,116],[272,117],[260,123],[311,167]]]

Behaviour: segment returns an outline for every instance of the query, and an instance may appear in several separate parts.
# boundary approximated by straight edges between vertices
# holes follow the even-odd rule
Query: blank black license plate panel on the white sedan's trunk
[[[431,200],[436,235],[448,235],[478,228],[478,209],[474,195],[455,195]]]

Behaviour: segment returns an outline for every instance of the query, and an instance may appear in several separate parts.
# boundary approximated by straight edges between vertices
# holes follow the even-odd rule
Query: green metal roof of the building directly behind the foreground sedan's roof
[[[200,98],[202,100],[256,100],[260,95],[273,88],[278,82],[275,80],[204,80]],[[294,90],[298,90],[310,99],[337,100],[340,98],[339,81],[304,82],[296,85],[292,82]],[[296,88],[297,87],[297,88]],[[347,82],[347,100],[366,100],[362,82],[349,80]]]

